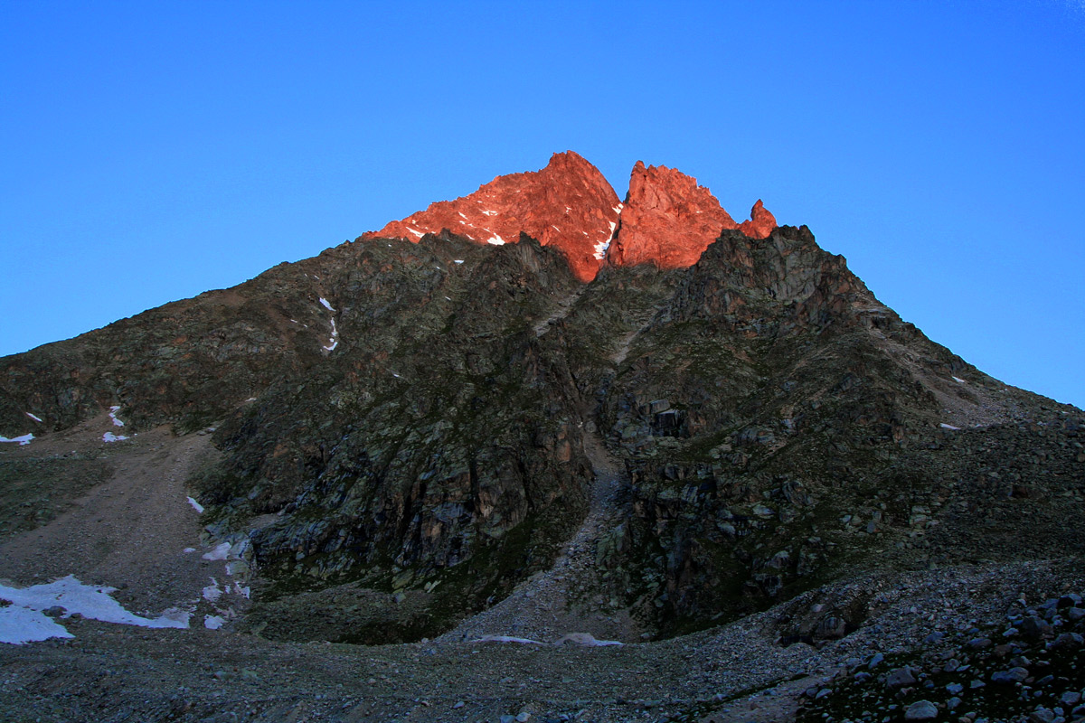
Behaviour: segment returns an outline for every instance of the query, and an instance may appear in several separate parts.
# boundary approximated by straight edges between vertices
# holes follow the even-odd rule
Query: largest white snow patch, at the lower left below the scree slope
[[[189,627],[190,614],[186,610],[170,608],[157,618],[144,618],[129,612],[120,603],[113,599],[111,593],[114,591],[116,591],[116,588],[84,584],[74,574],[48,584],[31,585],[29,588],[0,585],[0,599],[5,599],[12,604],[11,607],[0,609],[0,614],[4,614],[13,608],[24,610],[24,612],[8,612],[0,617],[0,638],[7,642],[8,637],[20,637],[22,633],[33,631],[50,632],[49,637],[71,637],[71,635],[66,634],[67,631],[64,630],[63,625],[55,622],[52,625],[48,624],[51,621],[42,614],[42,610],[48,610],[52,607],[63,608],[65,618],[78,614],[91,620],[114,622],[123,625],[139,625],[141,628]],[[37,612],[37,616],[34,615],[35,612]],[[5,623],[11,623],[14,629],[8,630]],[[44,638],[38,637],[36,640]]]

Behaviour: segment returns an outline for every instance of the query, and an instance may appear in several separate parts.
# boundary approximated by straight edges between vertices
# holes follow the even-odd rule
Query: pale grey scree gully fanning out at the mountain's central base
[[[525,580],[507,598],[464,620],[439,640],[506,635],[552,643],[569,633],[588,633],[600,641],[623,643],[639,640],[640,630],[626,610],[609,605],[609,601],[589,599],[580,594],[585,589],[596,588],[585,583],[592,582],[598,574],[599,539],[623,518],[616,499],[625,481],[621,465],[597,432],[585,432],[584,451],[595,472],[590,507],[553,567]]]

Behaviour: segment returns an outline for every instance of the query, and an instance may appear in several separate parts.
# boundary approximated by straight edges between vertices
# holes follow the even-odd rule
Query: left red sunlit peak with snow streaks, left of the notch
[[[417,242],[448,229],[478,243],[506,244],[523,231],[544,246],[557,246],[580,281],[591,281],[617,227],[622,204],[603,175],[572,151],[557,153],[540,171],[499,176],[468,196],[430,204],[362,240],[401,237]]]

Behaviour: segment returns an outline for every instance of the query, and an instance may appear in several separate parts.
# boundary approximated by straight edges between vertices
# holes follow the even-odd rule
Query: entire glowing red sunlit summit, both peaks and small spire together
[[[544,246],[558,247],[576,277],[588,282],[604,259],[613,266],[684,269],[697,263],[724,229],[765,238],[775,228],[776,218],[761,201],[749,221],[736,223],[697,179],[639,160],[623,206],[599,169],[566,151],[554,154],[540,171],[499,176],[471,195],[430,204],[361,240],[418,242],[426,233],[448,229],[480,244],[506,244],[519,241],[523,232]]]

